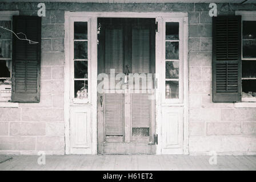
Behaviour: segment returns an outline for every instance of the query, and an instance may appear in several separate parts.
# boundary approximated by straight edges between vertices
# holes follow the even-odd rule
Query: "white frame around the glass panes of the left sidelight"
[[[88,97],[74,98],[74,22],[87,22],[87,93]],[[70,99],[74,104],[91,103],[91,34],[90,18],[71,17],[70,18]],[[85,59],[86,60],[86,59]],[[81,80],[84,80],[83,78]]]

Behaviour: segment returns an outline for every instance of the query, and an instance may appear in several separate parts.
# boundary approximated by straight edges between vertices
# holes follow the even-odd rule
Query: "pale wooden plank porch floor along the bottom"
[[[1,156],[3,157],[3,155]],[[256,156],[217,156],[217,164],[209,164],[210,156],[191,155],[11,155],[0,163],[3,170],[256,170]]]

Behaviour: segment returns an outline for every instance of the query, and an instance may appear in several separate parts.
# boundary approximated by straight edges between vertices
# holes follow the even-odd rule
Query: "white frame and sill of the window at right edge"
[[[235,11],[235,15],[241,15],[241,34],[243,32],[243,21],[256,21],[256,11]],[[242,40],[242,35],[241,35],[241,40]],[[255,58],[245,58],[243,59],[243,42],[241,41],[241,60],[255,60]],[[240,103],[235,103],[235,107],[256,107],[256,98],[243,98],[242,97],[242,102]]]

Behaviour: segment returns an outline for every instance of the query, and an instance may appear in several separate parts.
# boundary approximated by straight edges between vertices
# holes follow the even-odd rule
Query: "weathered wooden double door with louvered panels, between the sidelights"
[[[98,18],[98,154],[155,154],[154,73],[155,19]]]

